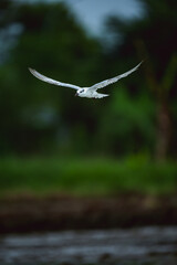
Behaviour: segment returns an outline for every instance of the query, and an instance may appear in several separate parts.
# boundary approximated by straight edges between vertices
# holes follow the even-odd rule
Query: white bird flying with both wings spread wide
[[[62,83],[52,78],[49,78],[42,74],[40,74],[39,72],[37,72],[35,70],[29,68],[29,71],[31,72],[32,75],[34,75],[37,78],[44,81],[46,83],[53,84],[53,85],[58,85],[58,86],[65,86],[65,87],[70,87],[73,89],[76,89],[75,96],[80,96],[80,97],[88,97],[88,98],[103,98],[108,96],[108,94],[101,94],[97,93],[97,89],[103,88],[107,85],[111,85],[117,81],[119,81],[123,77],[128,76],[129,74],[132,74],[133,72],[135,72],[142,64],[143,62],[140,62],[138,65],[136,65],[134,68],[125,72],[124,74],[117,75],[113,78],[110,80],[105,80],[102,81],[100,83],[94,84],[93,86],[90,87],[81,87],[81,86],[76,86],[76,85],[72,85],[72,84],[66,84],[66,83]]]

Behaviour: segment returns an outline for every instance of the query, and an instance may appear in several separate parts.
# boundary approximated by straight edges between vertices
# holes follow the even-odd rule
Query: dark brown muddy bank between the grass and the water
[[[0,199],[0,233],[177,225],[177,194]]]

